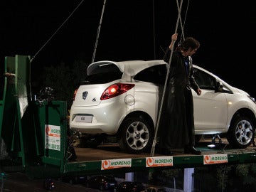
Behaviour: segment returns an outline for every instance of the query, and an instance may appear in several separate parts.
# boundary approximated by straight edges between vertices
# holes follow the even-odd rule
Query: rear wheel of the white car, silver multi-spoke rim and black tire
[[[149,150],[154,139],[153,128],[139,117],[124,119],[119,132],[119,147],[128,153],[138,154]]]

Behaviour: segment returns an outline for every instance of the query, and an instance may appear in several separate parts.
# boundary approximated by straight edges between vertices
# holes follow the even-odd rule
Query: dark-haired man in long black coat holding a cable
[[[200,43],[195,38],[188,37],[173,50],[177,36],[178,34],[171,36],[171,44],[164,55],[164,61],[170,64],[161,114],[159,146],[161,154],[165,155],[172,155],[173,149],[181,148],[186,154],[201,154],[201,151],[195,148],[191,92],[193,89],[197,95],[201,95],[201,89],[193,78],[191,58],[200,47]]]

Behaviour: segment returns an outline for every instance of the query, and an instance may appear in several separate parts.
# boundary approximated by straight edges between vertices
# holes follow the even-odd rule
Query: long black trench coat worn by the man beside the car
[[[170,53],[171,50],[166,50],[166,63],[169,63]],[[189,61],[187,70],[185,60]],[[198,89],[193,78],[192,59],[184,58],[179,51],[174,51],[159,124],[159,146],[162,149],[180,149],[186,145],[195,145],[191,88],[195,91]]]

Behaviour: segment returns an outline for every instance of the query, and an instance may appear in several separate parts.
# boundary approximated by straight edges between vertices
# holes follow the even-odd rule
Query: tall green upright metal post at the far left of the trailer
[[[9,156],[25,166],[23,129],[21,117],[26,113],[30,99],[30,63],[28,56],[16,55],[5,58],[5,86],[1,138],[7,146]]]

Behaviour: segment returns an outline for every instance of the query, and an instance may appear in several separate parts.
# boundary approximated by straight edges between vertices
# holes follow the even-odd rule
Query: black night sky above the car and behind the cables
[[[91,63],[103,2],[1,0],[1,68],[4,56],[10,55],[35,56],[31,75],[44,66],[72,66],[74,60]],[[185,36],[201,42],[193,63],[253,97],[255,11],[252,0],[183,0],[181,12]],[[177,16],[174,0],[107,0],[95,61],[163,58]],[[177,32],[180,37],[180,27]]]

